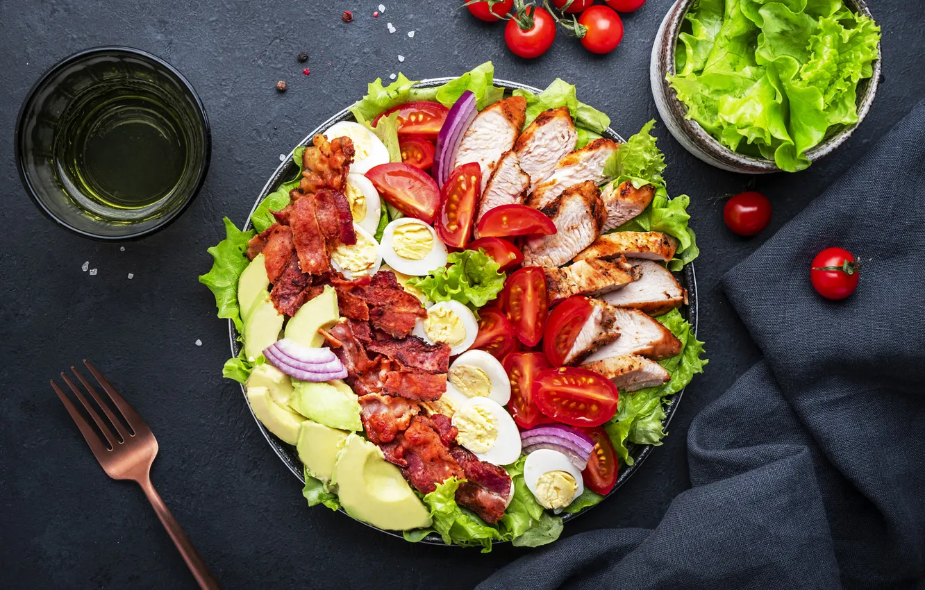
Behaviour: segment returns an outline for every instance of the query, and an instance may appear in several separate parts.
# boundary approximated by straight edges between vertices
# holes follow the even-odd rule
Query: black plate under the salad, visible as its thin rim
[[[434,78],[431,80],[422,80],[418,82],[417,85],[421,88],[428,88],[431,86],[438,86],[439,84],[443,84],[447,82],[448,80],[452,80],[452,79],[451,78]],[[509,91],[512,91],[514,89],[521,89],[521,90],[527,90],[530,92],[534,92],[536,94],[538,94],[539,92],[542,92],[541,90],[534,88],[532,86],[527,86],[526,84],[520,84],[518,82],[510,82],[507,80],[495,80],[495,85],[503,87]],[[329,119],[327,119],[327,121],[319,125],[317,129],[314,129],[311,133],[305,136],[305,139],[302,140],[300,145],[311,145],[312,138],[314,138],[314,135],[316,133],[323,132],[325,129],[329,128],[331,125],[334,125],[335,123],[338,123],[339,121],[352,121],[352,120],[353,120],[353,116],[351,115],[350,111],[347,110],[347,108],[344,108],[343,110],[339,111],[336,115],[334,115],[333,117],[330,117]],[[604,137],[608,137],[613,141],[624,141],[623,137],[621,137],[619,133],[617,133],[616,131],[610,128],[605,130],[603,135]],[[264,200],[266,195],[270,194],[271,192],[276,191],[280,184],[282,184],[283,182],[289,181],[292,178],[295,178],[298,170],[299,170],[299,167],[296,166],[295,162],[292,161],[292,153],[290,152],[289,157],[286,158],[286,161],[280,164],[277,167],[276,172],[273,173],[273,176],[270,177],[270,179],[266,181],[264,190],[260,191],[260,194],[257,196],[256,201],[254,201],[253,203],[253,209],[255,209],[257,205],[261,201]],[[253,209],[251,210],[252,214],[253,214]],[[251,226],[251,216],[248,215],[247,225],[244,226],[244,229],[247,230],[247,229],[250,229],[251,227],[252,227]],[[694,327],[694,333],[697,334],[697,278],[694,275],[694,264],[686,264],[684,270],[674,273],[674,277],[678,279],[678,282],[681,283],[682,287],[687,289],[687,298],[688,298],[689,304],[686,306],[683,306],[680,311],[681,311],[681,314],[684,315],[685,319],[688,322],[690,322],[691,326]],[[238,356],[238,354],[240,353],[240,342],[238,342],[238,336],[239,336],[238,330],[235,329],[234,322],[231,322],[229,320],[228,321],[228,338],[231,342],[232,356]],[[245,400],[245,403],[247,403],[247,396],[244,391],[244,386],[241,386],[240,390],[241,390],[241,393],[245,394],[244,400]],[[675,393],[672,396],[671,401],[665,407],[665,420],[662,422],[663,427],[667,428],[668,424],[672,421],[672,416],[674,415],[675,410],[677,410],[678,404],[681,402],[681,396],[683,393],[684,393],[684,389]],[[248,408],[250,408],[250,405],[248,405]],[[253,412],[251,413],[253,414]],[[260,428],[260,432],[264,433],[266,441],[270,443],[270,447],[272,447],[273,450],[276,451],[279,459],[282,460],[286,464],[286,466],[289,467],[290,471],[296,477],[299,478],[299,481],[301,481],[304,484],[305,478],[302,474],[302,461],[299,461],[299,456],[296,454],[295,447],[292,447],[291,445],[284,443],[283,441],[279,440],[276,436],[271,434],[265,428],[264,424],[261,424],[261,422],[257,420],[256,416],[254,416],[253,420],[254,422],[256,422],[257,427]],[[626,480],[629,479],[630,476],[633,475],[633,473],[635,473],[637,469],[639,469],[639,466],[642,464],[643,461],[646,460],[649,453],[652,452],[652,449],[653,447],[651,445],[634,445],[632,443],[628,445],[630,456],[633,457],[634,462],[632,465],[626,467],[625,469],[621,471],[619,477],[617,478],[617,484],[616,486],[613,487],[613,490],[611,491],[611,493],[608,494],[608,497],[610,497],[612,494],[615,494],[617,489],[620,486],[623,486],[623,484],[626,483]],[[586,511],[591,510],[592,508],[594,507],[593,506],[588,507],[585,510],[582,510],[574,514],[563,514],[562,520],[564,522],[569,522],[573,518],[576,518],[577,516],[584,514]],[[344,512],[343,509],[341,509],[340,511]],[[347,513],[344,512],[344,514],[347,514]],[[363,521],[359,521],[359,522],[363,522]],[[373,526],[372,524],[369,524],[368,522],[364,522],[364,524],[366,526],[376,529],[377,531],[382,531],[383,533],[387,533],[388,535],[393,535],[393,536],[398,536],[398,537],[402,536],[400,532],[387,531],[384,529],[380,529],[376,526]],[[444,545],[440,537],[438,535],[433,535],[433,534],[427,535],[424,538],[424,540],[421,542],[427,543],[430,545]]]

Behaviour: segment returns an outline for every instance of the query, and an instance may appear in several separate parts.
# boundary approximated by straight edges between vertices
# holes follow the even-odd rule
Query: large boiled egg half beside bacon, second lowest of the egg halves
[[[521,453],[517,424],[497,401],[472,398],[453,414],[456,442],[471,450],[481,461],[510,465]]]

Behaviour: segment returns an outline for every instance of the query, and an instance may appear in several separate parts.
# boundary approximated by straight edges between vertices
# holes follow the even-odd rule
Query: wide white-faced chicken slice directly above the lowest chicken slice
[[[671,330],[645,313],[613,307],[613,314],[613,326],[620,331],[620,338],[592,352],[585,363],[623,354],[639,354],[660,361],[681,352],[681,340],[674,338]]]

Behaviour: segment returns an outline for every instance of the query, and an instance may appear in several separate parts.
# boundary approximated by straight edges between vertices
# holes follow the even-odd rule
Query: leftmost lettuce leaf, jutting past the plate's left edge
[[[253,238],[253,231],[241,231],[225,217],[225,240],[206,252],[212,254],[212,269],[199,277],[199,282],[212,290],[216,296],[218,317],[234,322],[240,332],[244,327],[240,321],[238,306],[238,277],[251,261],[244,255],[247,242]]]

